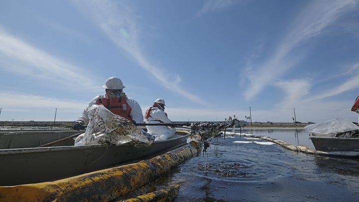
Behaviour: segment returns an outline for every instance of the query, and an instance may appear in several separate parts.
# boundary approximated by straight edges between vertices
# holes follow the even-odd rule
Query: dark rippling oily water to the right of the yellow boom
[[[250,132],[294,145],[308,143],[301,129]],[[207,155],[188,160],[168,179],[181,184],[176,202],[359,199],[357,160],[315,157],[276,144],[256,144],[247,136],[228,137],[213,139]]]

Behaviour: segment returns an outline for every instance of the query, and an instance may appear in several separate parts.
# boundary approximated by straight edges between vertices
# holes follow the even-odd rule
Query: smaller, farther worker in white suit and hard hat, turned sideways
[[[165,113],[165,100],[157,99],[146,113],[147,124],[172,123]],[[147,132],[155,136],[155,141],[167,140],[175,135],[176,128],[168,126],[146,126]]]

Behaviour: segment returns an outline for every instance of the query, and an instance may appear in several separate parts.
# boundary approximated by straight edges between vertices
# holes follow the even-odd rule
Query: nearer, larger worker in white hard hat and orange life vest
[[[90,101],[88,106],[80,114],[80,117],[75,121],[72,127],[74,130],[82,130],[84,129],[83,126],[88,124],[88,110],[94,104],[104,105],[112,113],[131,120],[133,123],[144,122],[139,103],[136,100],[128,98],[122,91],[125,86],[121,79],[110,77],[102,87],[105,88],[105,95],[96,96]]]

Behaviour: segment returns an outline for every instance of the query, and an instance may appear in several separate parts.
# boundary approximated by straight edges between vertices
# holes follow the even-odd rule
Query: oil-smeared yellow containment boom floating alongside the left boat
[[[128,196],[146,185],[151,185],[172,168],[199,152],[199,144],[192,141],[183,147],[135,164],[104,169],[54,182],[0,187],[0,201],[107,202],[123,200],[124,196]],[[169,192],[177,193],[176,190],[178,190],[178,186]],[[166,193],[166,191],[158,193]],[[129,201],[137,201],[151,196],[155,197],[154,193],[144,193],[143,196],[129,199]]]

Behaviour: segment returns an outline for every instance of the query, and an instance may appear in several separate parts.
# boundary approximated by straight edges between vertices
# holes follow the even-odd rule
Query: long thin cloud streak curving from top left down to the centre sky
[[[96,24],[119,47],[123,48],[143,69],[156,78],[163,87],[183,95],[193,102],[208,105],[200,97],[183,90],[178,74],[173,74],[153,65],[144,56],[141,37],[145,31],[144,26],[138,22],[140,18],[135,10],[124,2],[111,0],[74,1],[77,7],[84,11],[88,17],[93,17]]]

